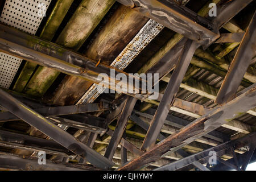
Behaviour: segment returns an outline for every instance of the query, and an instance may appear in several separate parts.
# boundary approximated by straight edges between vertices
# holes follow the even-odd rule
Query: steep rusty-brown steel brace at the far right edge
[[[245,36],[243,36],[243,40],[237,50],[236,56],[234,57],[224,82],[217,94],[215,100],[217,104],[224,104],[236,97],[238,86],[241,84],[243,75],[245,75],[256,50],[255,29],[256,13],[254,13],[253,18],[251,19],[249,28],[247,28]]]

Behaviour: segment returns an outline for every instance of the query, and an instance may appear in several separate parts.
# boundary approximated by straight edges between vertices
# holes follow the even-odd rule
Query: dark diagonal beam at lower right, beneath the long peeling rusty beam
[[[252,133],[250,135],[247,135],[244,138],[222,143],[218,146],[215,146],[215,147],[209,148],[207,150],[198,152],[197,154],[190,155],[186,158],[177,160],[173,163],[167,164],[166,166],[159,167],[155,170],[156,171],[175,171],[177,169],[181,169],[185,166],[188,166],[189,164],[192,164],[193,162],[196,162],[197,160],[204,159],[204,158],[209,158],[210,157],[209,156],[210,151],[215,151],[217,153],[217,152],[220,152],[222,150],[227,150],[230,147],[230,145],[232,145],[232,146],[236,145],[236,148],[240,148],[240,147],[246,146],[247,144],[250,144],[250,142],[255,140],[255,139],[256,139],[256,133]]]

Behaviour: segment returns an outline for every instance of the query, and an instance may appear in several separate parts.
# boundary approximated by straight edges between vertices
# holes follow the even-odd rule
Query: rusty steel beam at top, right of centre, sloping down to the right
[[[118,2],[199,44],[210,45],[220,37],[213,32],[212,22],[173,1],[118,0]]]

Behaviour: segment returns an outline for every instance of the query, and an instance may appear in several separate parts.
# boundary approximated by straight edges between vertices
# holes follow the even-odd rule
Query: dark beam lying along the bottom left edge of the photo
[[[38,164],[38,159],[23,159],[16,155],[0,155],[0,168],[21,171],[92,171],[98,170],[89,165],[79,165],[71,163],[52,163],[46,160],[46,165]]]

